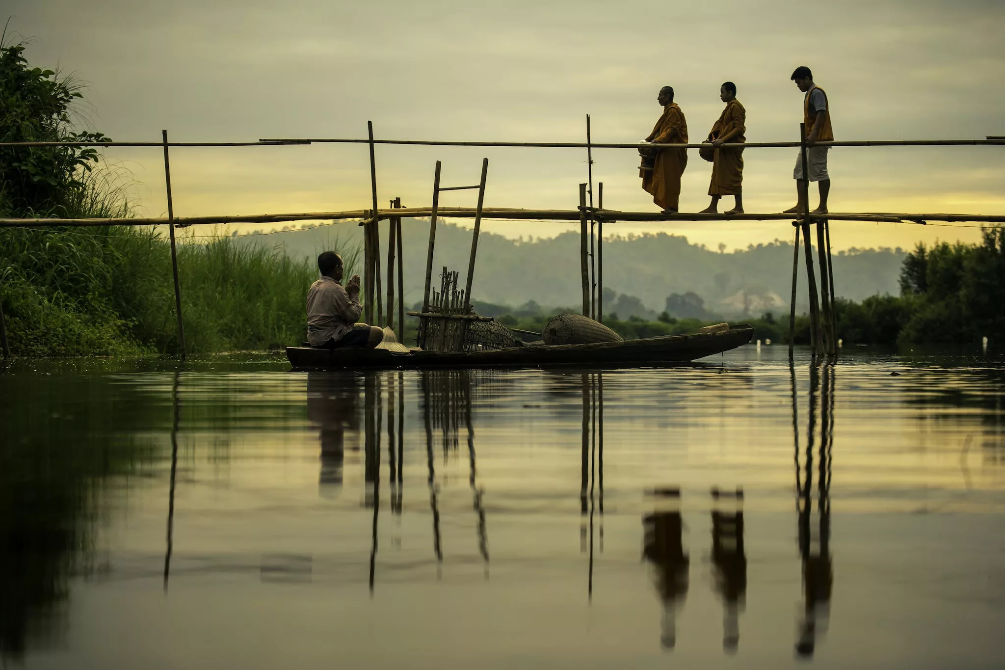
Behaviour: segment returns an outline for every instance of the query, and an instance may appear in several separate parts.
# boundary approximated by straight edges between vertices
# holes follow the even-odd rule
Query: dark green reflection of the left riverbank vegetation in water
[[[163,391],[163,389],[161,389]],[[73,575],[95,557],[107,481],[149,462],[136,431],[163,425],[150,394],[114,401],[102,380],[0,372],[0,665],[65,644]],[[122,426],[120,434],[95,425]],[[163,519],[163,517],[162,517]],[[162,526],[163,527],[163,526]]]

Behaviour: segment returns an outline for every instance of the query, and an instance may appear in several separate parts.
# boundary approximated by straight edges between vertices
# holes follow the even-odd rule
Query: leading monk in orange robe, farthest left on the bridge
[[[663,105],[663,115],[656,122],[645,142],[653,144],[687,144],[687,122],[680,107],[673,101],[673,88],[663,86],[656,100]],[[646,151],[646,150],[642,150]],[[686,149],[654,149],[655,160],[651,169],[643,162],[639,169],[642,188],[652,195],[652,202],[663,209],[663,214],[676,214],[680,202],[680,176],[687,167]]]

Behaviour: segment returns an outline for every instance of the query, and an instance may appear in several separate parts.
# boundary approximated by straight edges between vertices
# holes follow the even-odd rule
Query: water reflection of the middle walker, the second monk
[[[733,509],[712,510],[712,564],[715,566],[716,589],[723,597],[723,649],[736,652],[740,644],[740,611],[747,594],[747,554],[744,551],[744,492],[735,493],[712,489],[715,507],[730,502]]]

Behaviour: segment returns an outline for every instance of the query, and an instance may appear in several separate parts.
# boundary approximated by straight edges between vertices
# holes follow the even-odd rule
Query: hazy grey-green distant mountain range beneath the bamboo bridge
[[[344,251],[362,245],[360,231],[356,224],[342,224],[267,235],[252,233],[240,235],[238,239],[249,244],[276,246],[291,256],[316,256],[326,249]],[[405,219],[402,237],[405,296],[406,302],[411,304],[422,298],[428,219]],[[533,241],[481,233],[473,297],[510,305],[531,300],[546,306],[579,305],[582,301],[579,244],[579,234],[575,232]],[[470,248],[470,230],[450,223],[439,225],[433,262],[434,283],[439,283],[438,275],[444,265],[459,270],[463,278]],[[904,255],[901,249],[852,249],[835,253],[837,295],[861,300],[876,293],[897,294]],[[386,224],[382,224],[381,256],[381,271],[386,283]],[[619,294],[637,296],[644,305],[640,307],[642,310],[658,313],[667,308],[668,296],[677,294],[671,304],[678,304],[688,292],[699,296],[709,312],[728,316],[760,315],[764,311],[779,313],[788,309],[792,290],[791,242],[776,241],[723,253],[665,233],[628,235],[606,239],[603,258],[604,287]],[[801,258],[797,308],[805,310],[806,303],[805,261]],[[672,313],[673,309],[670,311]]]

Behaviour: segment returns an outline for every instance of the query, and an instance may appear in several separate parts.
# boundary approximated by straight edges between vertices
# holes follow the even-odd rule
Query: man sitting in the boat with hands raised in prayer
[[[384,339],[376,325],[357,323],[363,312],[360,304],[360,275],[354,274],[345,287],[342,256],[326,251],[318,256],[321,278],[308,290],[308,342],[320,349],[361,347],[374,349]]]

